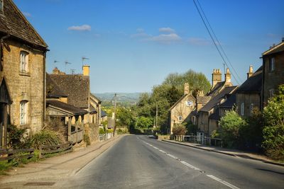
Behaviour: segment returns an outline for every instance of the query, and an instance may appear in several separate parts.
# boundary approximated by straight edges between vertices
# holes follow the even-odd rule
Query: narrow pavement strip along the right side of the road
[[[246,159],[254,159],[254,160],[258,160],[258,161],[262,161],[264,163],[267,164],[273,164],[273,165],[278,165],[278,166],[284,166],[284,163],[278,162],[278,161],[273,161],[272,159],[268,159],[267,156],[263,156],[260,154],[253,154],[253,153],[249,153],[246,151],[240,151],[237,149],[225,149],[225,148],[221,148],[221,147],[210,147],[210,146],[205,146],[202,144],[194,144],[194,143],[190,143],[190,142],[178,142],[175,140],[169,140],[169,139],[162,139],[162,141],[164,142],[170,142],[170,143],[174,143],[174,144],[180,144],[180,145],[184,145],[187,147],[193,147],[193,148],[197,148],[197,149],[203,149],[203,150],[207,150],[207,151],[214,151],[220,154],[226,154],[229,156],[239,156],[242,158],[246,158]]]

